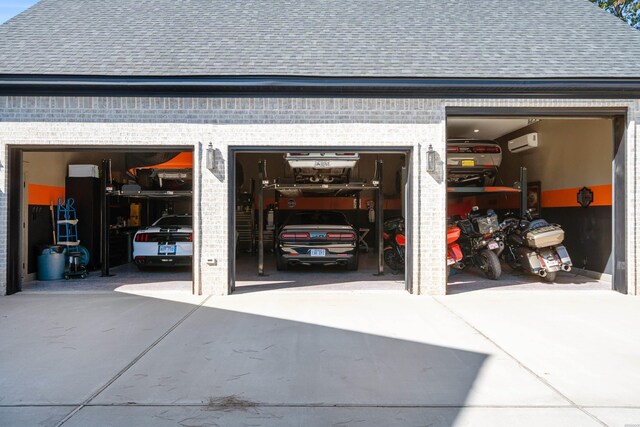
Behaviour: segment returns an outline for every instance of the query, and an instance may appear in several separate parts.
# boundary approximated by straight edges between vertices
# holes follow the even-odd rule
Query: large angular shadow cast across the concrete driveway
[[[487,357],[184,300],[0,300],[3,426],[451,426]]]

